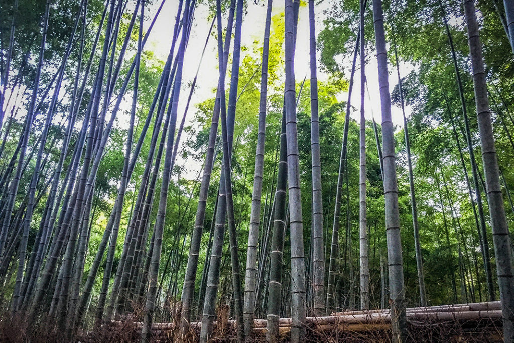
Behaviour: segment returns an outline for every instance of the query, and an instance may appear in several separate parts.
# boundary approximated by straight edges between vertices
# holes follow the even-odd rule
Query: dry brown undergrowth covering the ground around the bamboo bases
[[[105,323],[100,327],[92,326],[89,330],[78,331],[72,341],[83,343],[132,343],[141,339],[142,307],[134,306],[131,315],[119,320]],[[229,321],[230,308],[221,305],[217,309],[217,318],[213,328],[212,343],[229,343],[237,341],[233,322]],[[190,331],[180,332],[179,304],[169,305],[164,313],[157,314],[151,342],[194,343],[198,341],[200,326],[193,324]],[[161,317],[161,318],[159,318]],[[22,314],[0,316],[0,342],[69,342],[64,333],[55,329],[55,323],[40,319],[38,323],[28,325]],[[169,318],[166,322],[160,319]],[[289,342],[289,328],[281,327],[281,342]],[[250,341],[266,340],[264,328],[255,329]],[[390,342],[390,325],[384,323],[348,326],[345,324],[321,325],[310,323],[306,326],[306,335],[302,343],[336,343],[336,342]],[[501,342],[501,319],[448,320],[448,321],[414,321],[408,322],[408,342]]]

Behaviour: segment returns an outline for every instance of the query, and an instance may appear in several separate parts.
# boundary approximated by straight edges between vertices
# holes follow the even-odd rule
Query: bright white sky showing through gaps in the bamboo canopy
[[[315,11],[317,15],[316,21],[316,33],[318,34],[322,29],[323,25],[323,9],[329,8],[332,6],[332,1],[328,0],[324,1],[321,4],[317,5]],[[337,0],[336,0],[337,1]],[[248,7],[247,12],[243,21],[242,28],[242,45],[243,46],[251,46],[251,44],[257,40],[262,41],[264,35],[264,21],[266,17],[266,1],[260,0],[258,4],[255,4],[254,1],[247,1]],[[149,16],[153,16],[156,12],[157,7],[159,6],[160,1],[156,1],[150,8],[146,9],[145,12],[148,13]],[[174,26],[174,18],[177,12],[178,0],[167,0],[164,4],[162,11],[155,23],[155,27],[153,28],[149,41],[146,44],[146,49],[151,49],[155,52],[156,56],[162,60],[166,60],[168,56],[168,52],[171,46],[171,37],[173,33]],[[272,15],[280,13],[284,10],[283,2],[276,2],[272,9]],[[198,67],[198,63],[200,60],[201,49],[204,46],[206,34],[209,31],[209,27],[211,25],[211,21],[207,19],[208,16],[208,8],[204,4],[197,5],[195,10],[194,17],[194,26],[191,31],[190,41],[188,45],[188,49],[186,51],[185,56],[185,64],[183,67],[183,81],[182,84],[190,84],[193,80],[196,69]],[[226,18],[224,18],[224,25],[226,24]],[[146,22],[146,25],[150,25],[150,20]],[[299,12],[299,23],[298,23],[298,36],[297,36],[297,45],[295,52],[295,72],[296,72],[296,80],[300,82],[303,80],[305,75],[309,70],[309,27],[308,27],[308,8],[307,6],[300,7]],[[216,28],[214,27],[215,31]],[[191,104],[200,103],[210,97],[212,97],[213,89],[215,89],[218,80],[218,69],[217,69],[217,45],[215,39],[210,39],[204,60],[200,66],[199,75],[198,75],[198,83],[191,101]],[[341,42],[341,44],[343,44]],[[232,52],[232,49],[231,49]],[[243,52],[244,53],[244,52]],[[350,55],[350,54],[348,54]],[[351,56],[347,56],[344,58],[344,63],[347,66],[350,66]],[[318,63],[319,65],[319,63]],[[349,70],[350,67],[345,67],[345,70]],[[391,68],[390,68],[391,69]],[[401,64],[400,63],[400,74],[401,76],[405,76],[412,70],[412,66]],[[391,73],[390,70],[390,90],[392,91],[394,85],[397,83],[396,73]],[[380,122],[380,100],[378,96],[378,75],[377,75],[377,63],[376,58],[371,58],[370,63],[366,65],[366,76],[368,78],[370,97],[366,94],[364,100],[364,106],[366,108],[366,118],[371,119],[372,115],[375,116],[376,120]],[[350,77],[349,75],[347,77]],[[326,75],[318,71],[318,78],[320,80],[326,79]],[[229,81],[229,78],[227,78]],[[228,82],[227,81],[227,82]],[[358,92],[360,84],[360,74],[357,72],[355,74],[355,87],[353,92],[352,104],[355,107],[360,105],[360,92]],[[187,94],[189,93],[189,89],[182,89],[182,94],[184,96],[180,97],[179,108],[183,109],[185,107],[185,102],[187,101]],[[338,96],[340,101],[347,100],[347,93],[341,92]],[[407,109],[409,112],[409,109]],[[195,109],[190,106],[190,110],[188,113],[188,118],[186,120],[186,124],[191,124],[191,120],[194,116]],[[179,112],[180,113],[180,112]],[[409,114],[409,113],[407,113]],[[255,115],[258,115],[258,111],[255,111]],[[357,113],[354,116],[358,116]],[[402,125],[402,116],[401,110],[398,107],[394,107],[392,109],[392,119],[393,122],[397,125]],[[357,118],[357,117],[355,117]],[[178,165],[182,165],[184,161],[177,161]],[[193,167],[188,164],[188,167],[192,167],[193,170],[197,170],[198,167]],[[188,168],[189,169],[189,168]],[[197,171],[196,171],[197,172]],[[192,171],[191,176],[196,176],[196,172]],[[185,175],[182,175],[185,176]]]

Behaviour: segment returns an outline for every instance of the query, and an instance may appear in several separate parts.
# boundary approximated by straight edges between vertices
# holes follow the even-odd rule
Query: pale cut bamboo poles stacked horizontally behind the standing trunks
[[[502,318],[500,301],[479,302],[468,304],[429,306],[421,308],[408,308],[407,320],[415,322],[451,322],[470,320],[495,320]],[[266,333],[266,319],[254,319],[253,331],[257,334]],[[370,311],[345,311],[332,313],[325,317],[307,317],[305,323],[315,327],[319,331],[324,330],[348,330],[348,331],[375,331],[385,330],[390,327],[390,310]],[[135,329],[140,330],[141,323],[134,323]],[[217,325],[217,322],[214,322]],[[201,328],[201,322],[192,322],[191,329]],[[225,327],[235,328],[235,320],[227,320]],[[176,328],[175,323],[154,323],[156,331],[170,331]],[[279,331],[288,333],[291,329],[291,318],[279,319]]]

